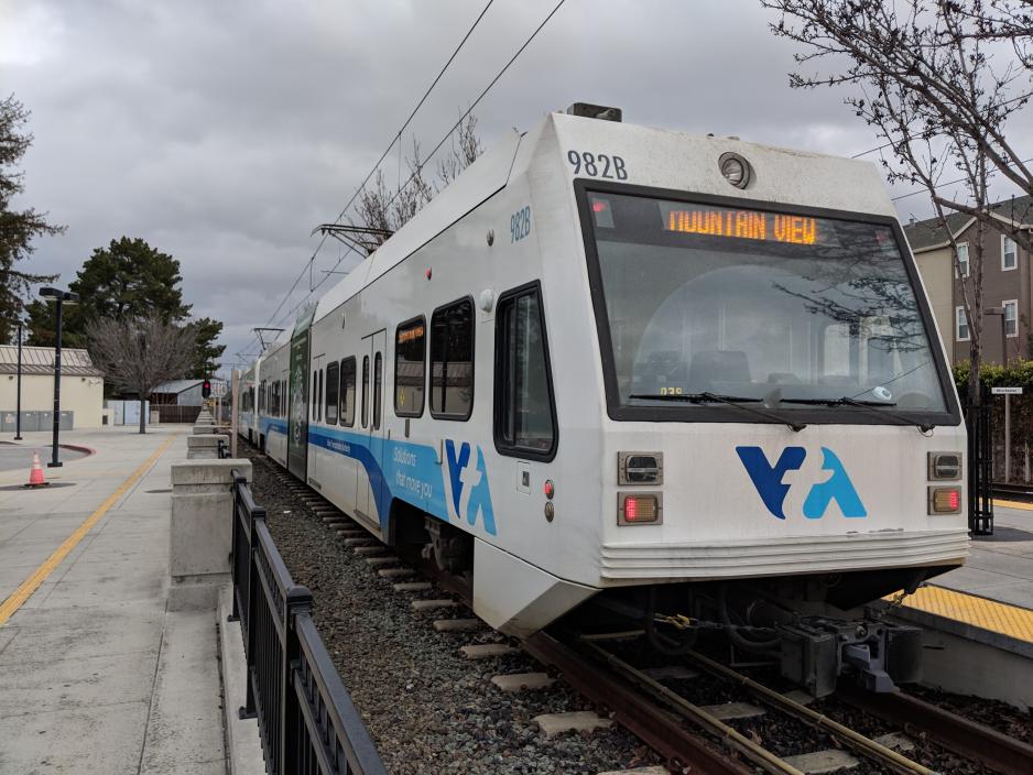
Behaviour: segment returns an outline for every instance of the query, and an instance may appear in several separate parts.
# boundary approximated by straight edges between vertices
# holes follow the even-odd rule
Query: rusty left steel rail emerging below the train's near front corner
[[[640,690],[591,664],[551,635],[535,633],[525,638],[522,645],[528,654],[543,665],[556,667],[578,694],[609,708],[617,723],[668,762],[691,766],[693,772],[714,775],[752,775],[754,772],[704,738],[686,730],[681,719],[651,702]]]

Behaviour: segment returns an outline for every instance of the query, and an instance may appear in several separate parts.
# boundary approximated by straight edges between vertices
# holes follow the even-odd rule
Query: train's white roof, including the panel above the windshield
[[[744,198],[896,217],[878,167],[870,162],[749,143],[738,138],[693,135],[565,112],[548,113],[526,134],[507,132],[403,228],[356,266],[317,303],[319,320],[429,242],[511,178],[537,172],[548,181],[567,164],[568,150],[608,151],[629,170],[627,183],[703,195],[729,195],[718,159],[733,152],[747,159],[755,178]],[[807,174],[801,174],[802,165]],[[563,170],[564,176],[567,175]],[[565,177],[567,183],[569,177]],[[290,332],[278,338],[289,340]]]

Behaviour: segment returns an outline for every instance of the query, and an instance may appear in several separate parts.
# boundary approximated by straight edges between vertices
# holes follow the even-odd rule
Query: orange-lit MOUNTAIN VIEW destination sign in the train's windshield
[[[762,210],[661,203],[664,230],[787,244],[822,241],[817,218]]]

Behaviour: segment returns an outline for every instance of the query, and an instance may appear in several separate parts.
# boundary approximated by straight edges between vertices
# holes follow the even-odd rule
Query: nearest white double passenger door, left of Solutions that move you
[[[382,525],[383,514],[379,505],[383,503],[385,491],[383,481],[384,465],[384,369],[388,342],[388,332],[381,329],[363,338],[367,347],[363,348],[362,363],[362,419],[367,435],[366,449],[368,452],[365,478],[365,488],[359,483],[357,511],[378,526]],[[367,354],[368,353],[368,354]],[[367,361],[366,358],[369,360]],[[368,371],[367,371],[367,363]],[[361,478],[360,478],[361,479]]]

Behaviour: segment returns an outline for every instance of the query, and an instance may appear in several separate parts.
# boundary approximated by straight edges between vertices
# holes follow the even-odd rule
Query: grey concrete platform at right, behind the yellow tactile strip
[[[972,541],[965,566],[931,582],[1033,609],[1033,504],[994,505],[993,535]]]

